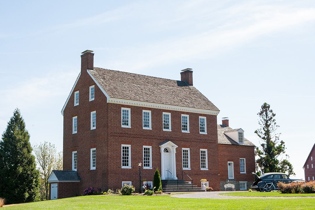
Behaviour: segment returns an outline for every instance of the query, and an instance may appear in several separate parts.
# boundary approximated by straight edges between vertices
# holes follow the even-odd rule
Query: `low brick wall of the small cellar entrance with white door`
[[[57,198],[69,198],[74,196],[80,196],[83,192],[79,191],[79,182],[52,182],[49,183],[49,200],[51,184],[58,183]]]

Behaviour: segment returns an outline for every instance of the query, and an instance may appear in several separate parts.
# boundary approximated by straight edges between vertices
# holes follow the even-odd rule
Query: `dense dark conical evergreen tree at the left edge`
[[[0,140],[0,197],[7,204],[37,199],[39,173],[29,139],[20,110],[15,109]]]

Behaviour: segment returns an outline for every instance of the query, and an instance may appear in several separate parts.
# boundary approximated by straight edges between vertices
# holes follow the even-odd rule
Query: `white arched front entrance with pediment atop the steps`
[[[163,142],[159,146],[161,152],[161,179],[177,179],[175,153],[178,146],[171,141]],[[175,178],[172,174],[168,174],[168,170],[175,176]]]

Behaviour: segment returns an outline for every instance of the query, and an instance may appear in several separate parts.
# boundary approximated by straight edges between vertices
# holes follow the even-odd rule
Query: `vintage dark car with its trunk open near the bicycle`
[[[289,176],[285,173],[264,173],[260,177],[254,172],[252,175],[255,177],[255,181],[252,185],[252,188],[258,188],[261,184],[271,183],[277,184],[278,182],[291,183],[293,181],[303,181],[302,179],[290,179]]]

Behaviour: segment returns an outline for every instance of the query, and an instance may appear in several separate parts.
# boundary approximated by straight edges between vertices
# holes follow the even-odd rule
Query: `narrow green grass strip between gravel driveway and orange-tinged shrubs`
[[[221,193],[221,196],[244,196],[244,197],[315,197],[315,193],[286,194],[281,192],[231,192]]]

